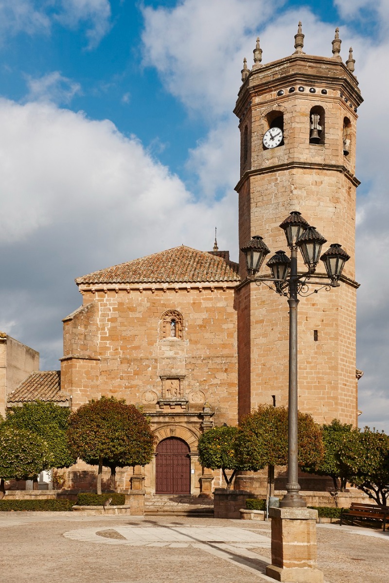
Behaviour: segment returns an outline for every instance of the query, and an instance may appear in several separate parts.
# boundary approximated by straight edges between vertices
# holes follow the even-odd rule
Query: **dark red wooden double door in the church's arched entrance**
[[[178,437],[159,442],[156,451],[156,494],[191,493],[190,448]]]

